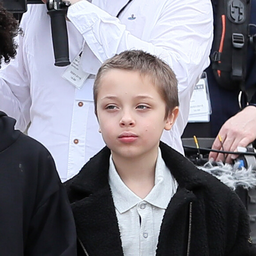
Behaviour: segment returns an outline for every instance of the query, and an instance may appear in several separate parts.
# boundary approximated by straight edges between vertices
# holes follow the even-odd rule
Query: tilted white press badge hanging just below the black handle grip
[[[68,68],[62,75],[64,79],[68,80],[78,89],[81,89],[83,87],[84,81],[90,75],[89,73],[84,72],[82,69],[82,66],[80,64],[81,56],[82,52],[75,57],[75,60],[72,61],[72,63],[68,66]]]

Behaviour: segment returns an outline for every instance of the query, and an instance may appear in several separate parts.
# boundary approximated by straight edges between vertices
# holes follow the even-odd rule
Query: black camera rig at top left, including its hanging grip
[[[0,0],[4,8],[13,13],[24,13],[27,4],[43,4],[41,0]],[[68,32],[66,24],[66,14],[69,1],[47,0],[48,14],[51,17],[51,29],[53,38],[53,49],[55,65],[59,67],[67,66],[69,61]]]

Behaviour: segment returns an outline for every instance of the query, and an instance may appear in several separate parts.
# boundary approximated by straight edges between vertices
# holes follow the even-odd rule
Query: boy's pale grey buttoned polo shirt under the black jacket
[[[109,185],[124,256],[154,256],[163,215],[178,185],[162,159],[161,150],[158,148],[154,187],[144,199],[136,196],[124,184],[111,156]]]

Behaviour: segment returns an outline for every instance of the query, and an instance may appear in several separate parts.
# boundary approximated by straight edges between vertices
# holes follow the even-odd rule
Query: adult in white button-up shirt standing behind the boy
[[[166,61],[177,75],[180,115],[162,140],[183,153],[181,134],[190,96],[210,63],[211,0],[70,2],[70,60],[79,61],[83,78],[88,78],[82,85],[74,84],[67,67],[53,65],[46,5],[28,5],[21,21],[24,34],[18,38],[17,57],[0,71],[0,109],[14,117],[16,128],[22,131],[31,123],[28,135],[49,149],[61,180],[66,181],[105,146],[98,134],[92,96],[98,68],[116,53],[142,49]]]

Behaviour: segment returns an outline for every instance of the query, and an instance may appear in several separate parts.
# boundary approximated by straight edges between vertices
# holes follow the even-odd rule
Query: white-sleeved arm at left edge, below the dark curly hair
[[[22,23],[26,23],[26,15]],[[22,26],[23,33],[25,26]],[[16,128],[24,131],[30,121],[30,82],[27,75],[24,35],[17,37],[18,49],[14,60],[0,69],[0,109],[17,120]]]

